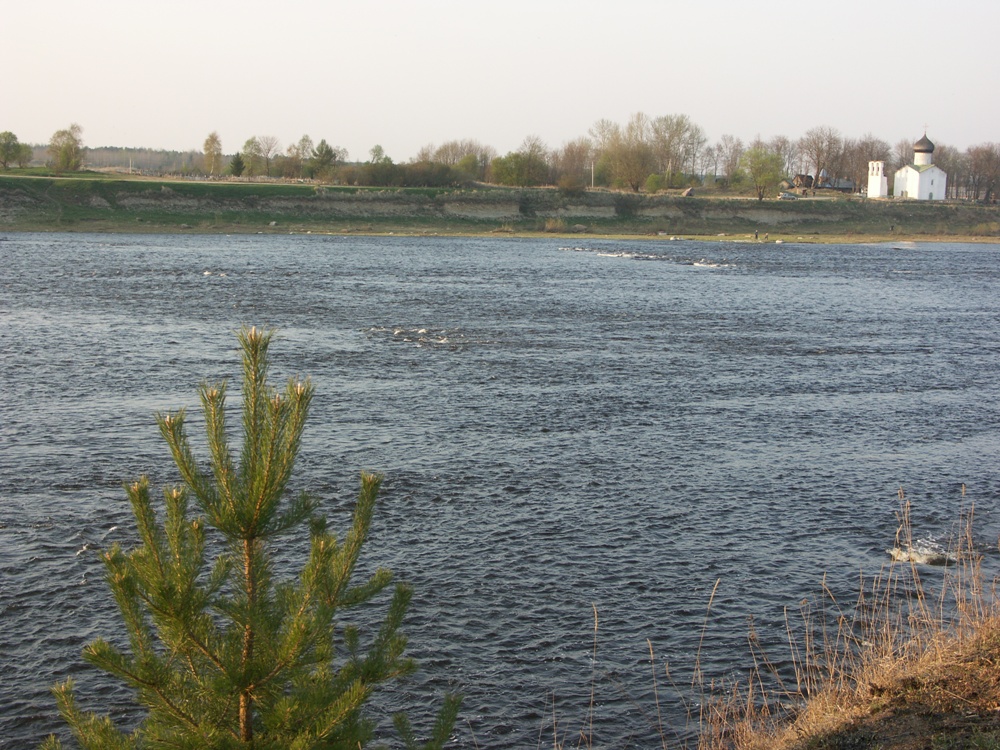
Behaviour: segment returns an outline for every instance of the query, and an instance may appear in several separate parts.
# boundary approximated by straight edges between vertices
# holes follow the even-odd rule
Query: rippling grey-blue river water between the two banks
[[[575,741],[592,691],[595,745],[659,746],[650,647],[674,739],[663,662],[739,676],[751,618],[787,661],[786,609],[887,563],[900,487],[944,543],[974,503],[996,567],[1000,247],[567,244],[0,234],[0,746],[66,736],[67,677],[139,717],[80,658],[123,635],[98,553],[135,543],[123,482],[177,481],[154,412],[227,377],[238,407],[241,325],[316,385],[295,489],[343,527],[384,473],[364,566],[414,586],[420,671],[377,708],[458,690],[457,747]]]

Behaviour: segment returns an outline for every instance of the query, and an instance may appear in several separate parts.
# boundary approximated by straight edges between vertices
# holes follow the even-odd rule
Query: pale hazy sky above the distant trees
[[[0,0],[0,130],[227,153],[303,134],[406,161],[472,138],[550,147],[597,120],[723,134],[927,126],[1000,141],[996,0]]]

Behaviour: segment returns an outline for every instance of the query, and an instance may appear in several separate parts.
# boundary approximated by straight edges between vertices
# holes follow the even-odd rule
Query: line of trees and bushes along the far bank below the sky
[[[25,167],[38,161],[31,146],[0,133],[0,167]],[[428,144],[415,157],[396,163],[379,146],[367,159],[351,161],[346,149],[308,135],[282,148],[275,136],[251,136],[227,155],[217,132],[202,151],[149,149],[85,149],[82,130],[71,125],[53,134],[44,158],[57,171],[80,169],[85,161],[99,167],[129,166],[146,172],[181,173],[212,178],[316,180],[341,185],[380,187],[444,187],[485,182],[515,187],[555,185],[565,191],[602,187],[633,192],[717,186],[752,192],[763,198],[782,180],[808,175],[817,187],[861,192],[867,186],[868,163],[883,161],[891,176],[913,161],[913,141],[891,145],[870,133],[848,138],[836,128],[817,126],[800,138],[784,135],[744,142],[731,134],[710,141],[687,115],[650,117],[642,112],[627,122],[602,119],[587,135],[558,148],[528,136],[520,146],[500,155],[474,139]],[[1000,183],[1000,144],[988,142],[964,151],[938,143],[934,162],[948,174],[949,198],[992,201]]]

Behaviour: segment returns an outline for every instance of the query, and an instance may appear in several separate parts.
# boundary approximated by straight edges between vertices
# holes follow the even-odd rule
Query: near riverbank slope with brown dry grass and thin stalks
[[[894,549],[924,550],[910,536],[909,506],[902,491],[900,497]],[[690,681],[678,683],[650,644],[652,698],[631,699],[635,714],[659,734],[664,750],[1000,750],[1000,600],[972,526],[970,509],[945,551],[941,576],[928,575],[925,553],[913,556],[922,562],[887,556],[846,605],[824,581],[815,598],[786,613],[786,647],[768,652],[751,621],[754,667],[738,682],[707,682],[699,647],[693,668],[684,670]],[[714,598],[713,591],[706,630]],[[595,608],[595,664],[597,615]],[[557,716],[553,707],[539,734],[553,750],[605,746],[593,716],[595,695],[606,688],[597,689],[596,672],[592,681],[586,711]],[[665,722],[668,704],[686,708],[686,726]]]

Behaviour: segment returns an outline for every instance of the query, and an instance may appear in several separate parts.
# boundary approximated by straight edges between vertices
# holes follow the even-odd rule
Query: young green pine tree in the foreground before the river
[[[381,629],[363,649],[358,632],[338,628],[344,610],[391,582],[387,570],[353,585],[381,478],[361,475],[353,522],[342,541],[326,530],[307,495],[287,497],[312,385],[267,383],[271,333],[239,334],[243,350],[243,445],[230,450],[226,386],[204,385],[210,470],[199,466],[184,411],[157,421],[181,484],[164,492],[162,521],[144,477],[128,485],[141,545],[104,554],[107,580],[128,634],[122,651],[104,640],[84,658],[124,680],[147,711],[130,734],[81,711],[72,681],[53,688],[60,713],[84,748],[359,748],[373,733],[362,714],[383,682],[413,669],[400,625],[410,589],[395,587]],[[192,513],[189,505],[197,508]],[[272,550],[282,535],[309,534],[297,580],[278,581]],[[206,547],[219,550],[214,564]],[[426,747],[447,740],[461,699],[449,696]],[[405,718],[397,727],[416,741]],[[49,738],[46,747],[59,747]]]

